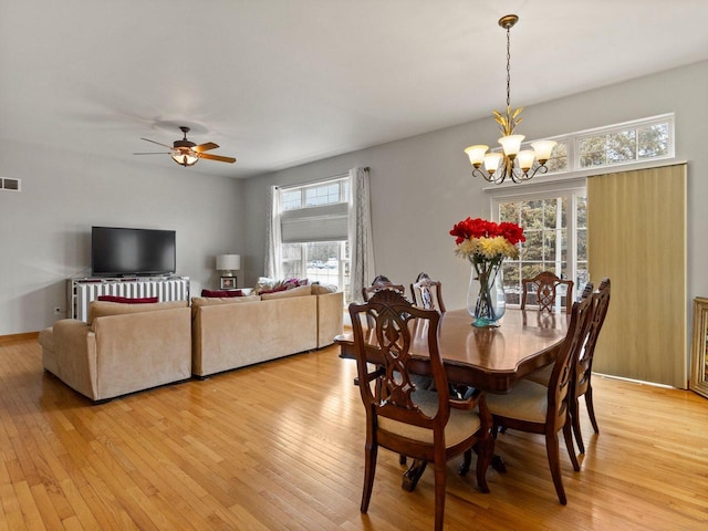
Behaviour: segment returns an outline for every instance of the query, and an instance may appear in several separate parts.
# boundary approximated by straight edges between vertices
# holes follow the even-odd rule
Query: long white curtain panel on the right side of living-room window
[[[361,302],[375,271],[368,168],[350,169],[350,301]]]

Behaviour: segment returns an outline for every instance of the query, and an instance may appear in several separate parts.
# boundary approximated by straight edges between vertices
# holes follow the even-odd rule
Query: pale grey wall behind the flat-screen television
[[[176,230],[177,274],[190,278],[192,294],[218,285],[216,254],[243,246],[242,183],[198,166],[3,142],[0,176],[22,180],[21,192],[0,191],[0,335],[65,316],[66,279],[90,274],[92,225]]]

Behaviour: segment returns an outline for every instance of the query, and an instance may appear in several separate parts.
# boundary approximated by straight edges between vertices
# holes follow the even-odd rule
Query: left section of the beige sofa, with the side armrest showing
[[[88,323],[64,319],[40,333],[44,368],[100,402],[191,377],[187,301],[91,303]]]

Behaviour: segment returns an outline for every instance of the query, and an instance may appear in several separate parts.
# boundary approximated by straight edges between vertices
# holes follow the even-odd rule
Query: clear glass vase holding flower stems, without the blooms
[[[499,326],[507,310],[501,260],[470,260],[467,311],[472,326]]]

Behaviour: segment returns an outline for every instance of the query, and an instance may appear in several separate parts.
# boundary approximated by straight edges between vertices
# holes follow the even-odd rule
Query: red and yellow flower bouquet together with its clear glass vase
[[[455,237],[455,253],[472,264],[472,275],[467,295],[467,310],[475,319],[475,326],[498,326],[506,310],[501,262],[504,258],[518,258],[517,243],[527,241],[523,229],[517,223],[467,218],[450,230]],[[499,290],[499,292],[497,291]]]

